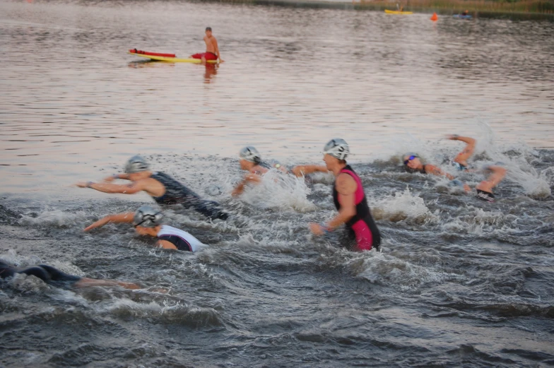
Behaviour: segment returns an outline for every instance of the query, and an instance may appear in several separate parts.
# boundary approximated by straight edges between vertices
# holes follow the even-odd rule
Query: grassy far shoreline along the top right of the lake
[[[211,0],[208,0],[211,1]],[[467,10],[474,18],[507,18],[512,20],[554,21],[554,1],[529,0],[500,2],[485,0],[398,0],[398,1],[340,1],[340,0],[215,0],[228,4],[253,4],[286,6],[294,8],[338,8],[346,10],[384,11],[396,10],[403,4],[404,11],[437,13],[452,16]]]

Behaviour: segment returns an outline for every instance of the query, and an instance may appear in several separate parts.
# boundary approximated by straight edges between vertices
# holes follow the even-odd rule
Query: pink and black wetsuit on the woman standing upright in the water
[[[358,174],[350,167],[341,170],[341,173],[349,174],[358,184],[358,189],[355,191],[356,214],[348,222],[346,226],[350,230],[350,235],[354,235],[358,243],[358,250],[370,250],[372,248],[379,249],[381,245],[381,232],[377,228],[375,221],[372,218],[370,206],[367,206],[367,198],[363,190],[362,181]],[[333,185],[333,202],[336,210],[341,209],[341,203],[338,202],[338,191],[336,190],[336,182]]]

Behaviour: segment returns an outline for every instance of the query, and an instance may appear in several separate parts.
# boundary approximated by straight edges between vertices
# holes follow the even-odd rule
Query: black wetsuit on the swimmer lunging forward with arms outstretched
[[[194,191],[191,191],[183,184],[177,182],[169,175],[163,172],[154,172],[152,179],[158,180],[165,186],[165,194],[160,197],[152,197],[154,201],[160,204],[175,204],[179,203],[185,208],[194,208],[197,212],[205,215],[208,218],[220,218],[226,220],[229,216],[221,209],[221,205],[216,201],[207,201],[200,198]]]

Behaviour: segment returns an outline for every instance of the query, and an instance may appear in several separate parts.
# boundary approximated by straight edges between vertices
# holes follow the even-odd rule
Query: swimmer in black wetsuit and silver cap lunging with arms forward
[[[114,179],[130,180],[131,184],[78,182],[76,186],[92,188],[104,193],[135,194],[139,191],[146,191],[160,205],[179,203],[185,208],[194,208],[212,220],[228,218],[228,214],[221,209],[219,203],[200,198],[187,186],[163,172],[151,172],[146,160],[139,155],[133,156],[127,161],[124,174],[114,174],[105,178],[105,181],[111,182]]]

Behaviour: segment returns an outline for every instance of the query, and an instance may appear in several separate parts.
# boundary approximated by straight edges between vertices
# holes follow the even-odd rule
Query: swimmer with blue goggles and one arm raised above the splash
[[[456,134],[448,136],[447,139],[466,143],[466,147],[458,153],[458,155],[456,155],[452,165],[459,171],[467,171],[467,160],[471,158],[471,155],[473,155],[473,152],[475,151],[476,140],[470,137],[458,136]],[[431,164],[424,164],[420,157],[415,153],[406,153],[406,155],[403,156],[403,162],[408,172],[420,172],[421,174],[433,174],[437,176],[444,176],[451,180],[454,179],[451,174],[443,172],[439,167]]]

